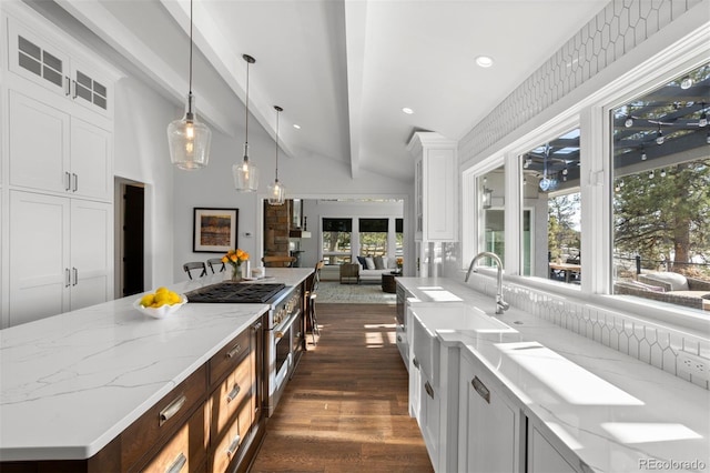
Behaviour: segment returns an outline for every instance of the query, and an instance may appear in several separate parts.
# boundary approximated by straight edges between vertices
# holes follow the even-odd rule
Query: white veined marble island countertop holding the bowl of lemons
[[[267,269],[296,285],[313,269]],[[176,292],[224,273],[169,285]],[[158,320],[140,294],[0,331],[0,460],[88,459],[268,310],[187,303]]]

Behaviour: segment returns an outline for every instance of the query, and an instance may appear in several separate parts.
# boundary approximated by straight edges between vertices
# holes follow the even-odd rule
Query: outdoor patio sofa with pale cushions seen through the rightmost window
[[[636,281],[615,283],[613,292],[692,309],[710,310],[710,282],[673,272],[638,274]]]

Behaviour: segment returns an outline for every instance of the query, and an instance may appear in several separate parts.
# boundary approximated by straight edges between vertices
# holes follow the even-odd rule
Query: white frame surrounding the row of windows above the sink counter
[[[462,174],[462,270],[466,270],[470,259],[478,252],[479,219],[477,210],[480,208],[477,195],[477,178],[501,163],[505,157],[506,170],[506,280],[547,291],[558,295],[582,299],[589,304],[598,304],[612,310],[638,314],[692,330],[708,330],[708,319],[704,314],[682,306],[663,304],[653,301],[633,301],[612,293],[612,192],[613,162],[611,137],[611,111],[623,103],[633,100],[673,78],[693,70],[710,61],[710,48],[704,43],[701,34],[690,34],[677,48],[670,48],[656,54],[629,72],[609,81],[595,93],[589,93],[585,100],[567,109],[550,108],[541,115],[549,117],[539,127],[527,131],[524,135],[494,151],[488,158],[478,160],[473,165],[463,162]],[[554,115],[555,111],[559,113]],[[541,278],[524,276],[523,273],[523,239],[521,220],[524,202],[521,193],[521,163],[519,155],[526,150],[564,133],[572,127],[580,129],[580,193],[581,193],[581,248],[585,258],[596,261],[585,269],[585,276],[580,286],[557,284]],[[509,214],[515,217],[508,218]],[[471,219],[471,215],[476,218]],[[516,222],[516,228],[509,222]],[[508,254],[508,251],[517,254]],[[604,263],[598,263],[602,261]]]

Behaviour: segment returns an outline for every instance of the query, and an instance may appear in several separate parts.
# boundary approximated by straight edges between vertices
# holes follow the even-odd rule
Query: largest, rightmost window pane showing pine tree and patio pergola
[[[710,309],[710,64],[612,111],[613,292]]]

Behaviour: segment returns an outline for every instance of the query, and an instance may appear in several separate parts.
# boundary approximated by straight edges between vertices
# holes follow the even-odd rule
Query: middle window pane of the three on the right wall
[[[523,274],[581,282],[579,129],[524,153]]]

